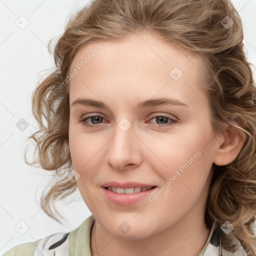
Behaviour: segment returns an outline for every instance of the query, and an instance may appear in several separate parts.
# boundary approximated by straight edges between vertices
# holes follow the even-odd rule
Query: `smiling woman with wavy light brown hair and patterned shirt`
[[[78,11],[33,93],[30,138],[58,178],[43,210],[59,221],[51,204],[78,188],[92,215],[4,255],[255,255],[256,88],[242,39],[229,0]]]

